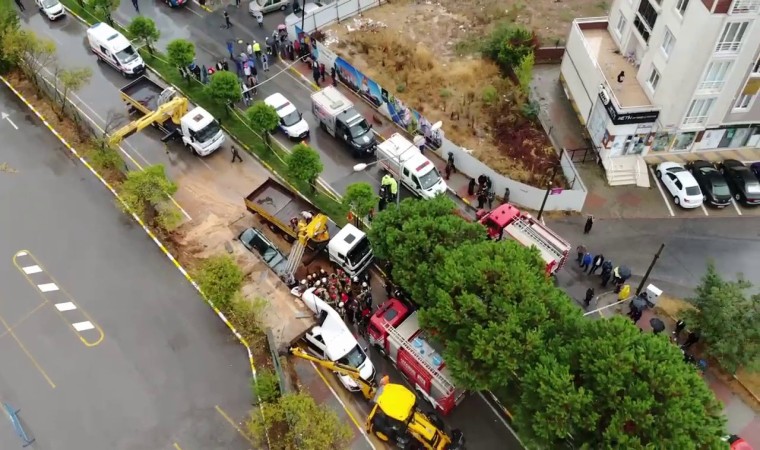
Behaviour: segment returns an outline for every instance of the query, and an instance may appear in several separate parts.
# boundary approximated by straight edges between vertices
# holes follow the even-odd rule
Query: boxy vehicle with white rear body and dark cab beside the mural
[[[311,96],[311,109],[319,126],[341,140],[356,157],[371,156],[377,149],[372,125],[359,114],[354,104],[334,86]]]

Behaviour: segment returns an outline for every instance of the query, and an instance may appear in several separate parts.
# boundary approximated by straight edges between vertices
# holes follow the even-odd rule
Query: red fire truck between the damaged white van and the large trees
[[[451,381],[443,358],[420,328],[416,311],[391,298],[372,315],[367,331],[369,342],[441,414],[462,401],[465,391]]]

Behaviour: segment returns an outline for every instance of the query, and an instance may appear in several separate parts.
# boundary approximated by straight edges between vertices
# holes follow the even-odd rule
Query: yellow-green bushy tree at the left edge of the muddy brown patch
[[[167,178],[162,164],[130,171],[119,190],[128,211],[134,212],[148,223],[153,223],[160,210],[165,209],[164,203],[175,192],[177,184]]]

